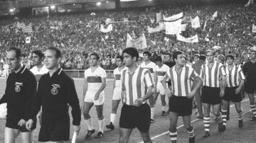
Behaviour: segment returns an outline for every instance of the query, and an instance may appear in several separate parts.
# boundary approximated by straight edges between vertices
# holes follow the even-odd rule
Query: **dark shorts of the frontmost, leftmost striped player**
[[[137,127],[141,132],[149,132],[150,108],[147,103],[136,107],[124,104],[119,119],[119,127],[133,129]]]

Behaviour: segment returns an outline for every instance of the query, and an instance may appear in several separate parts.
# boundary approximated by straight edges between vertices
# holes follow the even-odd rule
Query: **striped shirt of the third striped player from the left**
[[[223,64],[214,62],[213,67],[208,67],[208,63],[201,67],[200,76],[203,79],[203,86],[220,87],[220,77],[225,76]]]

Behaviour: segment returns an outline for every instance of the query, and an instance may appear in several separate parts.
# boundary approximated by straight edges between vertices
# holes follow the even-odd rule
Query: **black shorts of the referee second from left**
[[[42,125],[38,137],[39,142],[69,141],[69,139],[70,122],[56,125]]]

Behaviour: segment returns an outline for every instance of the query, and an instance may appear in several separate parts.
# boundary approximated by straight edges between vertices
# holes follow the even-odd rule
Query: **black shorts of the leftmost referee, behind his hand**
[[[18,122],[20,120],[17,120],[17,119],[14,119],[14,118],[10,118],[10,116],[7,116],[7,119],[6,119],[6,127],[9,127],[11,129],[17,129],[19,130],[20,132],[31,132],[31,130],[34,130],[36,129],[36,118],[33,119],[33,126],[31,128],[31,130],[27,130],[26,129],[26,125],[23,125],[23,126],[19,126],[18,125]]]

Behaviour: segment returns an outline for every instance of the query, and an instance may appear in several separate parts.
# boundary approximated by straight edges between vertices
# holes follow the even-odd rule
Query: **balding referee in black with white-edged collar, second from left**
[[[56,47],[49,47],[45,52],[44,62],[48,74],[41,76],[38,93],[33,101],[30,118],[36,118],[42,106],[42,125],[39,142],[63,142],[70,139],[70,105],[75,132],[80,130],[81,110],[73,79],[59,68],[61,52]],[[28,130],[33,127],[33,120],[28,120]]]

